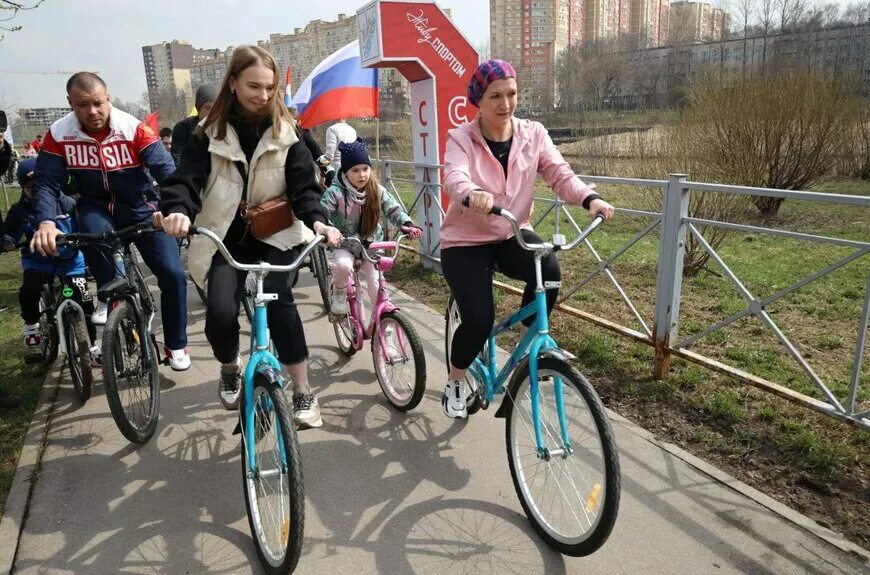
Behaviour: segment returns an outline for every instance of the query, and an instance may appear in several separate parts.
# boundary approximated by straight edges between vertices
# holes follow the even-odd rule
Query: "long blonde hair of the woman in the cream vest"
[[[239,46],[233,51],[233,57],[230,59],[230,63],[227,66],[227,72],[224,74],[223,82],[221,82],[221,89],[218,92],[214,106],[212,106],[211,112],[209,112],[205,123],[197,133],[205,133],[212,124],[217,124],[217,133],[215,134],[215,137],[218,140],[226,138],[227,119],[234,108],[241,108],[241,104],[239,104],[236,99],[236,95],[230,90],[230,80],[235,78],[235,80],[238,81],[242,72],[251,66],[256,66],[257,64],[261,64],[271,69],[273,72],[275,91],[272,93],[272,98],[266,104],[263,113],[261,114],[261,118],[268,116],[272,118],[272,137],[277,138],[280,135],[282,120],[288,121],[291,126],[293,125],[293,118],[290,116],[290,112],[287,111],[286,106],[284,106],[284,99],[281,90],[278,88],[280,84],[278,64],[275,62],[275,58],[259,46]]]

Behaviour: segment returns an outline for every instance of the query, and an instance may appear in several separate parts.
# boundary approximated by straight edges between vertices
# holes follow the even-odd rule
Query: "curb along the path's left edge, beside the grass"
[[[34,474],[45,450],[63,365],[61,358],[58,358],[45,374],[39,401],[27,428],[18,465],[15,467],[12,486],[6,496],[6,508],[0,519],[0,573],[11,573],[15,566],[18,542],[24,530],[30,497],[38,480],[38,477],[34,478]]]

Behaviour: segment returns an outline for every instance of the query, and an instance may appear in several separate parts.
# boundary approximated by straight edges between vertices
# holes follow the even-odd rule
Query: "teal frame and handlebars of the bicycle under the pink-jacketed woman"
[[[496,394],[505,392],[505,382],[511,376],[514,369],[528,355],[529,357],[529,378],[531,379],[531,401],[532,401],[532,425],[535,431],[535,443],[537,447],[538,457],[549,459],[554,456],[567,457],[573,451],[571,447],[571,438],[568,436],[568,424],[565,418],[565,402],[563,395],[563,383],[561,378],[556,378],[553,382],[554,397],[556,399],[556,413],[559,417],[559,428],[562,435],[562,446],[555,449],[549,448],[543,437],[541,428],[540,415],[540,382],[538,380],[538,358],[547,355],[553,355],[561,359],[574,359],[574,356],[567,351],[561,349],[559,344],[550,336],[550,323],[547,317],[547,292],[543,285],[541,277],[541,259],[548,254],[558,251],[568,251],[575,248],[586,237],[597,228],[603,219],[598,216],[593,222],[568,246],[563,246],[564,238],[557,236],[556,240],[561,240],[560,243],[554,245],[552,243],[527,244],[520,232],[516,218],[509,211],[501,208],[493,208],[492,213],[500,215],[508,220],[514,228],[514,237],[523,249],[535,252],[535,279],[537,281],[535,287],[535,301],[530,302],[521,310],[508,317],[498,325],[492,328],[489,334],[488,345],[486,346],[487,357],[483,361],[480,357],[474,359],[474,362],[468,367],[468,371],[478,381],[486,385],[485,398],[487,402],[492,402]],[[550,286],[556,288],[558,286]],[[498,362],[496,360],[495,337],[523,320],[535,316],[535,322],[529,327],[529,330],[523,336],[519,345],[511,352],[504,367],[498,371]]]

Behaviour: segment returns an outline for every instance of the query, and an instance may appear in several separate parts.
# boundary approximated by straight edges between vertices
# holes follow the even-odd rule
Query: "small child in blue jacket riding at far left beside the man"
[[[21,199],[10,209],[3,227],[3,251],[13,251],[22,236],[30,241],[36,229],[33,213],[33,169],[36,158],[28,158],[18,165],[18,184],[21,186]],[[61,195],[58,213],[64,215],[55,220],[58,229],[64,233],[74,231],[73,220],[69,212],[75,207],[75,200],[70,196]],[[44,257],[38,252],[32,252],[28,247],[21,248],[21,267],[24,277],[21,289],[18,291],[18,302],[21,306],[21,318],[24,320],[24,345],[28,348],[38,348],[42,344],[44,334],[39,326],[39,298],[43,286],[50,278],[62,278],[64,285],[73,289],[73,299],[85,312],[85,323],[91,340],[91,359],[94,363],[100,361],[100,348],[94,344],[97,330],[91,321],[94,311],[94,300],[88,292],[85,280],[85,259],[78,250],[67,246],[58,248],[59,256]]]

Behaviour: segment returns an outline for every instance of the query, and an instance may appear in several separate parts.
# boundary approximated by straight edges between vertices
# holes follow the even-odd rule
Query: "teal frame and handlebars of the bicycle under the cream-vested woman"
[[[274,301],[278,299],[278,294],[269,294],[263,293],[263,279],[269,274],[273,272],[285,273],[292,272],[302,265],[302,262],[305,261],[305,258],[308,256],[308,253],[313,250],[317,244],[319,244],[323,240],[323,236],[316,236],[314,240],[306,244],[305,248],[296,258],[296,260],[290,265],[278,266],[272,265],[269,263],[261,262],[259,264],[241,264],[238,263],[233,257],[230,255],[226,246],[223,244],[221,239],[217,237],[211,230],[206,228],[200,228],[197,226],[191,226],[191,234],[200,234],[208,237],[212,242],[215,243],[218,250],[221,254],[226,258],[227,263],[229,263],[232,267],[247,271],[248,273],[253,273],[254,277],[257,280],[257,294],[255,296],[254,302],[254,318],[251,325],[251,357],[248,359],[248,364],[245,366],[245,384],[242,390],[242,394],[244,395],[244,409],[239,413],[239,426],[241,428],[241,432],[244,434],[244,441],[246,445],[253,446],[256,442],[256,437],[254,435],[255,429],[252,424],[254,421],[254,380],[257,375],[263,375],[268,381],[272,381],[275,385],[279,387],[283,387],[283,378],[281,377],[281,364],[278,362],[278,358],[276,358],[271,351],[269,351],[269,326],[266,318],[266,304],[270,301]],[[267,405],[261,406],[264,411],[269,412],[272,409],[271,400],[268,395],[265,395],[261,398],[261,401],[268,402]],[[280,421],[276,418],[275,425],[281,425]],[[280,435],[280,428],[278,429]],[[284,443],[282,441],[278,442],[278,449],[281,455],[281,467],[282,469],[286,469],[287,467],[287,454],[284,450]],[[256,462],[256,454],[253,449],[246,450],[248,455],[247,461],[247,476],[248,478],[253,478],[257,476],[259,470],[257,469]]]

